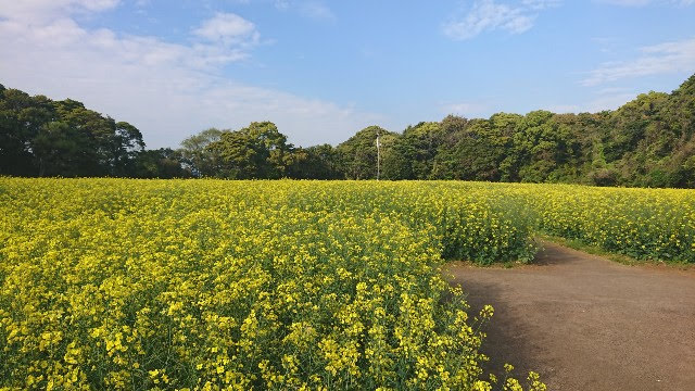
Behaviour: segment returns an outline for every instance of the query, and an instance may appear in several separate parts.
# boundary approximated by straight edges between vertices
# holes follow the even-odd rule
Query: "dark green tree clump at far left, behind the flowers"
[[[0,175],[134,176],[143,149],[135,126],[80,102],[0,88]]]

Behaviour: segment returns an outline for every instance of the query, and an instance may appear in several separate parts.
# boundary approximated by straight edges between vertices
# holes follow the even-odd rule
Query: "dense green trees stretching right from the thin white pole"
[[[614,112],[448,116],[428,124],[433,131],[422,126],[396,135],[384,178],[695,187],[695,76]]]

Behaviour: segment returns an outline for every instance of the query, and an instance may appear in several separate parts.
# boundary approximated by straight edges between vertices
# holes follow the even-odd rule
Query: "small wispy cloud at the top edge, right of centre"
[[[533,27],[539,11],[560,3],[559,0],[523,0],[519,5],[509,5],[495,0],[476,0],[468,12],[444,23],[442,30],[455,40],[493,30],[521,34]]]

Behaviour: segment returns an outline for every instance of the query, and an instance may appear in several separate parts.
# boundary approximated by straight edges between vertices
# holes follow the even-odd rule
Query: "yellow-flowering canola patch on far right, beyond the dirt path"
[[[695,190],[520,187],[546,234],[637,260],[695,263]]]

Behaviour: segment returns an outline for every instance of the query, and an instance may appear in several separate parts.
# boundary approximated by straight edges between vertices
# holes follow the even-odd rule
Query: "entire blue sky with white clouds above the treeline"
[[[671,91],[695,73],[693,21],[695,0],[0,0],[0,83],[128,121],[150,148],[252,121],[336,144]]]

